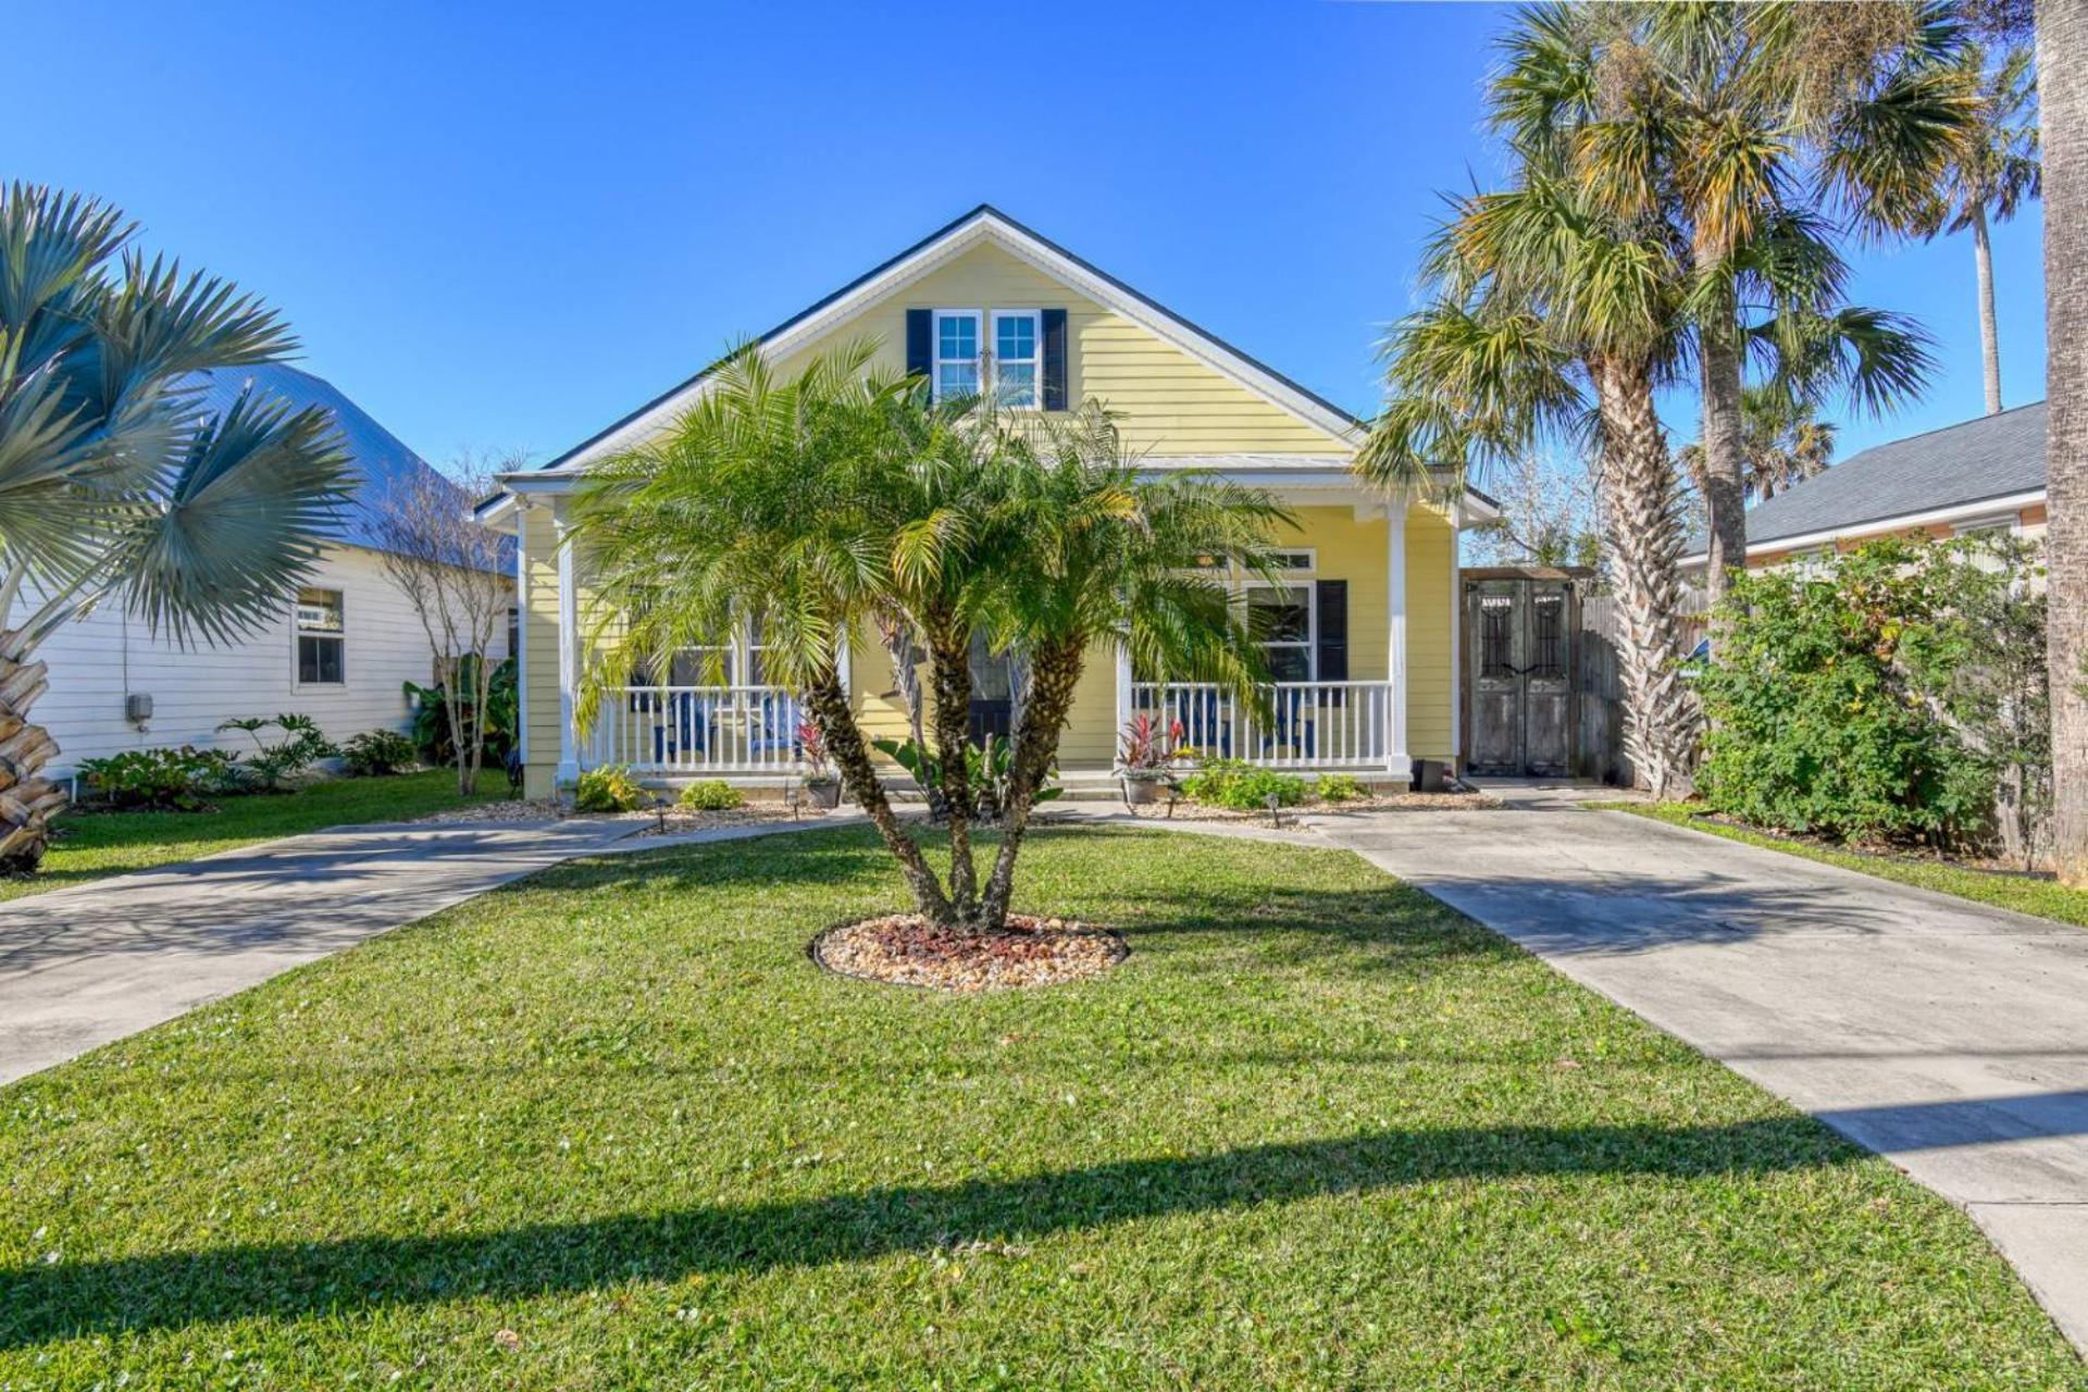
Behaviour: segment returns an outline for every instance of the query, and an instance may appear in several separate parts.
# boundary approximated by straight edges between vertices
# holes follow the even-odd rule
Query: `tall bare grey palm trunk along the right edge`
[[[2088,885],[2088,6],[2038,0],[2038,100],[2044,123],[2044,534],[2053,682],[2053,860]]]

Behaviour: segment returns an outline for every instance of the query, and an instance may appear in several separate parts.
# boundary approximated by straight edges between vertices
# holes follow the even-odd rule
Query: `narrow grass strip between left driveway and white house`
[[[507,797],[507,774],[480,774],[482,797]],[[27,879],[0,877],[0,899],[63,889],[84,881],[194,860],[236,845],[290,837],[322,826],[397,822],[457,808],[457,774],[428,770],[397,778],[334,778],[299,793],[226,797],[213,812],[65,812],[44,868]]]

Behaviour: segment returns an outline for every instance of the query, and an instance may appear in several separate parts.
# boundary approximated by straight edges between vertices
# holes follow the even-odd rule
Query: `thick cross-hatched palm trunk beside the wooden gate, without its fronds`
[[[1624,620],[1624,753],[1654,797],[1685,791],[1695,710],[1681,680],[1683,549],[1675,461],[1654,407],[1647,369],[1589,363],[1601,428],[1610,559]]]

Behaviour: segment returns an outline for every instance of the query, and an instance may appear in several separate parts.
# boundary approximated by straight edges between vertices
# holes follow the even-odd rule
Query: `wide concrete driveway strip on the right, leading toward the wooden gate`
[[[2088,931],[1556,795],[1315,824],[1890,1156],[2088,1350]]]

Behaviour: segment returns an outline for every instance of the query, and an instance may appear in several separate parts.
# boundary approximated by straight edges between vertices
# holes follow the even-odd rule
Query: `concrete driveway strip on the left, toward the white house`
[[[639,829],[345,826],[0,904],[0,1083]]]

